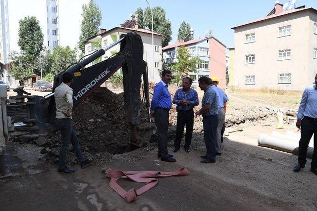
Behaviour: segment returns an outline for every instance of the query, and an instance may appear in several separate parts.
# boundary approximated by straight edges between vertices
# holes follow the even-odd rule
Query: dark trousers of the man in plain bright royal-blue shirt
[[[162,158],[168,157],[168,150],[167,150],[167,131],[168,131],[168,116],[169,110],[156,108],[154,112],[154,119],[155,124],[158,130],[158,148],[159,154]]]

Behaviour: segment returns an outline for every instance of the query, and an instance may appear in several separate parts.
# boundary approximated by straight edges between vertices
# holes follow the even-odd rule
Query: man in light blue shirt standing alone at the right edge
[[[301,139],[298,147],[298,164],[294,172],[305,168],[308,144],[314,134],[314,153],[311,171],[317,175],[317,75],[315,85],[305,88],[298,108],[296,127],[301,129]]]

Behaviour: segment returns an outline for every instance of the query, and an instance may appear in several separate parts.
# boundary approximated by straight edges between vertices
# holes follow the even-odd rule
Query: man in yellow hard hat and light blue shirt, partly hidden
[[[225,113],[223,110],[223,103],[227,102],[229,98],[224,94],[221,88],[217,85],[219,79],[217,77],[211,77],[211,87],[216,92],[218,97],[218,128],[217,128],[217,139],[216,139],[216,154],[221,155],[221,130],[224,124]]]

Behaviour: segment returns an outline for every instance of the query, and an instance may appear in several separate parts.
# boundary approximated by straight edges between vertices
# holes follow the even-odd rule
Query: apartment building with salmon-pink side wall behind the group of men
[[[219,86],[226,87],[226,46],[212,36],[198,38],[191,41],[176,41],[162,48],[163,59],[166,63],[177,63],[177,47],[186,46],[191,56],[198,56],[200,64],[196,73],[189,73],[193,85],[198,86],[198,79],[202,76],[219,78]]]

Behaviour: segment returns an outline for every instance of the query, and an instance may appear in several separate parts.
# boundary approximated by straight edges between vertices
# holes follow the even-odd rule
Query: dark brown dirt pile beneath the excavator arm
[[[125,120],[123,93],[115,94],[106,87],[100,87],[74,109],[72,117],[74,129],[86,156],[111,162],[112,154],[126,152],[130,126]],[[144,105],[141,106],[140,120],[147,121]],[[57,162],[59,131],[49,134],[44,141],[37,140],[36,143],[45,146],[42,153],[47,155],[47,160]],[[69,151],[70,161],[76,162],[71,144]]]

